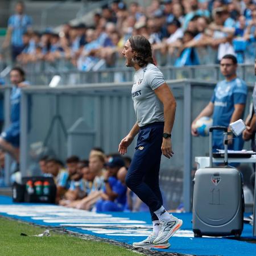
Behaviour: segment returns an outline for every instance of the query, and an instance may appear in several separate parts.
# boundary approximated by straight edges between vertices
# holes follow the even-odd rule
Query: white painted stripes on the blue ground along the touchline
[[[31,217],[45,223],[70,226],[106,236],[147,237],[152,226],[142,220],[113,217],[112,214],[60,207],[57,205],[0,205],[0,212],[19,217]],[[193,237],[192,230],[178,230],[174,237]]]

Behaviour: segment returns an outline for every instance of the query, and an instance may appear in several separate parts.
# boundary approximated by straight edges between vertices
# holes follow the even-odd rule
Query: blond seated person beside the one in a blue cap
[[[104,172],[104,163],[105,155],[101,152],[95,151],[90,154],[89,170],[90,174],[94,176],[92,189],[90,190],[88,196],[78,201],[76,204],[73,205],[73,207],[76,207],[78,209],[90,210],[93,208],[96,201],[100,199],[100,195],[104,187],[104,177],[102,176]]]

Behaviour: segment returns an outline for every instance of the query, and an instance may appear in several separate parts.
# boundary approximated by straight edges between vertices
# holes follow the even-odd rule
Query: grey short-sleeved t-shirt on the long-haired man
[[[163,104],[154,92],[164,82],[162,72],[151,63],[135,73],[131,96],[139,127],[164,122]]]

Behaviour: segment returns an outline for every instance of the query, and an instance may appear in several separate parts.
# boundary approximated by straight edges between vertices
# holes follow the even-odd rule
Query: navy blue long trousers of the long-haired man
[[[152,220],[158,220],[154,212],[163,205],[159,188],[163,129],[164,122],[141,127],[133,160],[126,176],[127,187],[147,204]]]

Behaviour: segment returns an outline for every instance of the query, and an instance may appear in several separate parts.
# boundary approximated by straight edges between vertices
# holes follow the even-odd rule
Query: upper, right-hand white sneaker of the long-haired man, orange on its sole
[[[180,229],[182,223],[182,220],[176,217],[172,217],[170,220],[160,221],[159,234],[153,241],[154,244],[158,245],[168,241]]]

